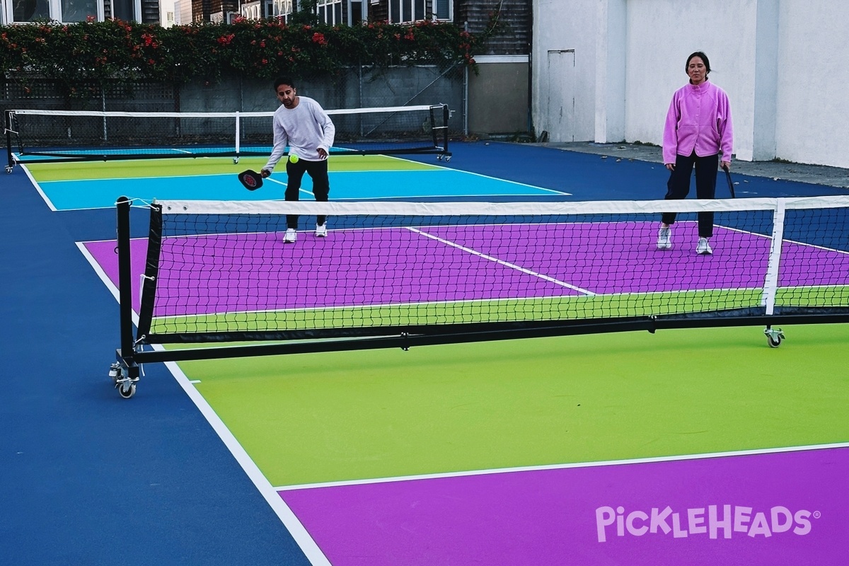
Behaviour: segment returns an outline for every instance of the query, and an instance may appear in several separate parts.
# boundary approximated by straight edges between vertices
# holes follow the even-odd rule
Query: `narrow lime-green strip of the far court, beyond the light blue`
[[[219,175],[259,170],[267,163],[267,157],[243,157],[234,164],[230,157],[197,157],[171,160],[126,160],[126,161],[77,161],[66,163],[26,163],[27,169],[37,181],[72,181],[80,179],[128,179],[150,177],[155,171],[158,177],[194,177]],[[278,169],[285,160],[278,164]],[[385,155],[338,155],[328,161],[329,171],[428,171],[439,169],[427,165]]]

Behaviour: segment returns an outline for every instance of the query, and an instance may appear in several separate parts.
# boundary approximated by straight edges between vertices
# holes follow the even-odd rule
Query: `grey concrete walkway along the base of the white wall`
[[[540,147],[565,149],[585,154],[607,155],[616,159],[663,163],[661,148],[634,143],[531,143]],[[731,163],[731,171],[753,177],[772,177],[785,181],[809,182],[836,188],[849,188],[849,169],[826,165],[805,165],[779,161],[739,161]]]

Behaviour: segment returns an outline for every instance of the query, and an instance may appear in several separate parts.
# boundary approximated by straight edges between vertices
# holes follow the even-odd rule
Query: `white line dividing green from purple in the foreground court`
[[[444,479],[444,478],[461,478],[466,476],[491,475],[491,474],[512,474],[515,472],[541,472],[545,470],[559,470],[570,468],[601,468],[605,466],[626,466],[629,464],[649,464],[662,462],[683,462],[687,460],[707,460],[711,458],[728,458],[739,456],[757,456],[760,454],[783,454],[785,452],[802,452],[814,450],[830,450],[834,448],[849,448],[849,442],[837,442],[835,444],[818,444],[810,446],[788,446],[784,448],[761,448],[756,450],[740,450],[728,452],[708,452],[706,454],[685,454],[683,456],[659,456],[650,458],[633,458],[632,460],[604,460],[601,462],[575,462],[568,464],[547,464],[544,466],[517,466],[514,468],[494,468],[484,470],[469,470],[466,472],[445,472],[441,474],[419,474],[396,476],[394,478],[374,478],[374,479],[351,479],[343,481],[330,481],[318,484],[300,484],[300,485],[278,485],[275,490],[292,491],[292,490],[308,490],[320,487],[342,487],[346,485],[370,485],[370,484],[390,484],[399,481],[413,481],[417,479]]]

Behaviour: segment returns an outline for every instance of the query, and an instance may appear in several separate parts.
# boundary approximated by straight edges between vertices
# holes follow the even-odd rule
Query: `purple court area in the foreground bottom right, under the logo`
[[[847,469],[833,448],[279,494],[335,566],[840,564]]]

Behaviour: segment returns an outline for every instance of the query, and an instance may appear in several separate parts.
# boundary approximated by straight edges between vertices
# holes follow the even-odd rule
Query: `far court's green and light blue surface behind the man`
[[[533,187],[477,173],[428,165],[383,155],[338,155],[330,160],[331,198],[435,199],[554,196],[551,189]],[[115,193],[153,199],[266,200],[282,199],[285,162],[263,188],[246,191],[234,182],[237,173],[257,171],[265,160],[226,157],[191,160],[87,161],[73,164],[31,163],[31,176],[55,210],[110,208]],[[309,176],[301,198],[311,199]],[[120,196],[119,195],[119,196]]]

